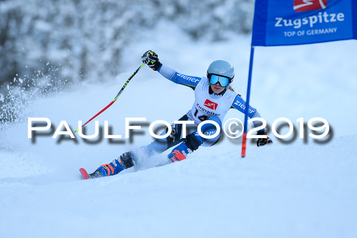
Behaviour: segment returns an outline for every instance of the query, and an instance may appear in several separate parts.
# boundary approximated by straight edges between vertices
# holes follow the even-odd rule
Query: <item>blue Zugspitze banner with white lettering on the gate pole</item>
[[[356,0],[256,0],[253,46],[357,39]]]

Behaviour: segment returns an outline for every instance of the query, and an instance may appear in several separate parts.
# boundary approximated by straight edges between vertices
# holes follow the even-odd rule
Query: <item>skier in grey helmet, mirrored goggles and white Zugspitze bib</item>
[[[199,146],[211,146],[218,142],[220,135],[213,139],[205,139],[197,132],[197,126],[200,122],[211,120],[222,127],[222,121],[225,114],[230,108],[245,113],[245,101],[233,91],[230,87],[234,78],[234,68],[232,64],[223,60],[216,60],[210,64],[207,70],[207,77],[193,77],[178,73],[172,68],[163,65],[158,59],[158,55],[151,50],[145,52],[141,57],[143,63],[151,69],[158,71],[161,75],[176,84],[185,85],[194,90],[195,102],[179,121],[193,121],[193,125],[187,126],[187,136],[183,138],[183,124],[172,124],[171,135],[164,139],[157,139],[149,145],[140,147],[137,151],[129,151],[121,154],[116,160],[107,165],[101,165],[93,173],[89,174],[90,178],[115,175],[124,169],[131,168],[138,162],[138,154],[143,153],[145,156],[151,156],[156,153],[162,153],[168,148],[177,145],[168,158],[172,162],[185,160],[187,154],[192,153]],[[256,109],[249,107],[248,116],[250,118],[260,117]],[[255,127],[262,125],[260,121],[253,122]],[[214,135],[216,126],[207,123],[201,127],[204,135]],[[163,131],[165,135],[168,130]],[[265,129],[258,131],[257,135],[267,135]],[[258,139],[257,146],[263,146],[272,143],[269,138]]]

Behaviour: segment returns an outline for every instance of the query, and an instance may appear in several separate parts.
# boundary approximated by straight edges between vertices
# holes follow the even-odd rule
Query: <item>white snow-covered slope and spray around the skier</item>
[[[152,31],[156,39],[133,42],[122,52],[127,61],[112,81],[39,97],[27,117],[49,118],[55,129],[66,120],[74,130],[78,120],[87,121],[113,100],[147,49],[188,75],[205,75],[213,60],[230,61],[233,87],[246,97],[249,37],[209,43],[191,41],[174,25]],[[256,48],[251,105],[270,125],[279,117],[296,126],[300,117],[322,117],[333,128],[329,143],[296,138],[284,144],[270,133],[274,144],[248,143],[242,159],[241,140],[224,137],[179,163],[165,165],[165,152],[119,175],[82,180],[79,168],[92,172],[151,142],[148,127],[132,142],[87,144],[53,134],[33,143],[27,121],[6,125],[0,139],[1,236],[357,237],[356,51],[355,41]],[[97,120],[108,120],[112,133],[124,137],[125,117],[171,123],[193,100],[191,89],[145,66]],[[231,117],[243,120],[235,110],[226,119]],[[94,132],[94,122],[86,127]]]

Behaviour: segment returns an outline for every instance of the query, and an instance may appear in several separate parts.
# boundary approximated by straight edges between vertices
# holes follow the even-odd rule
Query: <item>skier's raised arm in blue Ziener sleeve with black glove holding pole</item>
[[[141,59],[143,63],[147,64],[151,69],[158,71],[161,75],[175,84],[185,85],[194,90],[198,82],[201,80],[201,77],[185,75],[162,64],[158,59],[158,55],[152,50],[146,51]]]

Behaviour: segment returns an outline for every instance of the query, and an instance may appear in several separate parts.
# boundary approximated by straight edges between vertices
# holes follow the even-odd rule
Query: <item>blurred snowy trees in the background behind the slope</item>
[[[249,32],[252,12],[253,0],[0,1],[0,103],[14,77],[27,78],[23,90],[38,82],[50,88],[112,78],[122,71],[125,45],[158,22],[173,22],[193,39],[216,41]]]

